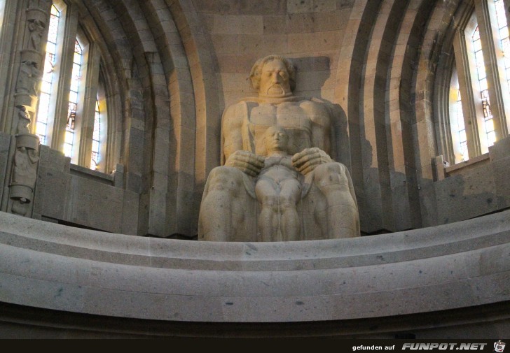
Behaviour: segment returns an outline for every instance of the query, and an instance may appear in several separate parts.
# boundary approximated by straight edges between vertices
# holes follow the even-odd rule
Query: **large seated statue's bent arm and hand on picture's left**
[[[223,114],[221,129],[225,165],[233,166],[247,175],[256,176],[264,166],[264,158],[243,150],[242,123],[245,114],[244,103],[228,107]]]

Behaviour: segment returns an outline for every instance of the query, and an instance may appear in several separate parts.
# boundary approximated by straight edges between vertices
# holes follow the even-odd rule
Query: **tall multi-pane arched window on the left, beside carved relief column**
[[[101,62],[99,45],[81,27],[76,6],[54,0],[36,134],[41,143],[70,157],[71,163],[106,171],[100,162],[101,136],[106,136],[107,128],[106,100],[97,103]]]

